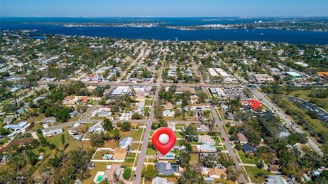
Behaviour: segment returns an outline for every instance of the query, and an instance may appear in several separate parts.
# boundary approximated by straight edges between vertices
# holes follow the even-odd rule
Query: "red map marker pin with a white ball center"
[[[160,127],[154,131],[152,142],[162,155],[166,155],[173,148],[176,142],[176,136],[170,128]]]

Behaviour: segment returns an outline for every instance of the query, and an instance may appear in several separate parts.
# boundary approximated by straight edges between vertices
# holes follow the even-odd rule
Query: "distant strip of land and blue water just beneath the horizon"
[[[63,27],[137,27],[179,30],[277,29],[328,31],[328,17],[1,17],[5,24]]]

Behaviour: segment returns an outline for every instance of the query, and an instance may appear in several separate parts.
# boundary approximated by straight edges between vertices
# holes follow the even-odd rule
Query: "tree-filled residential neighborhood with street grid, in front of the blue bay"
[[[328,178],[327,45],[27,32],[1,33],[0,183]]]

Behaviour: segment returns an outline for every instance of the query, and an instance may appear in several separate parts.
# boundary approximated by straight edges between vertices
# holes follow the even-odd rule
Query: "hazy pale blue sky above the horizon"
[[[328,16],[328,0],[1,0],[0,16]]]

